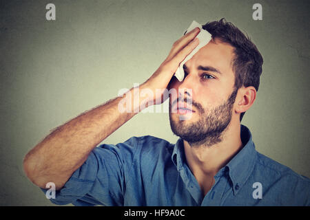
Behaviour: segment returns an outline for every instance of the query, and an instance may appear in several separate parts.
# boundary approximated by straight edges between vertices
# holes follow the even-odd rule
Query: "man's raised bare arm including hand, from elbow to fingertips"
[[[198,29],[193,30],[176,41],[166,60],[140,86],[140,91],[150,89],[154,96],[141,97],[138,94],[138,111],[143,110],[145,101],[155,103],[158,97],[156,89],[167,88],[180,62],[198,45],[198,42],[192,41],[198,32]],[[128,93],[132,94],[132,111],[118,111],[118,104],[123,103],[125,96],[115,98],[57,127],[34,146],[23,160],[28,178],[41,188],[45,188],[49,181],[54,182],[56,189],[62,188],[72,173],[85,162],[92,149],[138,112],[133,109],[136,97],[134,89]]]

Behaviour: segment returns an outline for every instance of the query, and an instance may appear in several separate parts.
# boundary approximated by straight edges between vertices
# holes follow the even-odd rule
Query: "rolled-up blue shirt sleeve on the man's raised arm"
[[[123,206],[125,183],[134,161],[138,137],[116,145],[101,144],[74,171],[52,203],[75,206]],[[43,192],[48,190],[41,188]]]

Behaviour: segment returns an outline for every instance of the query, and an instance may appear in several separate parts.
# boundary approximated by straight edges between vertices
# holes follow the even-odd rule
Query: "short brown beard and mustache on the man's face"
[[[223,103],[206,111],[201,104],[192,100],[200,118],[197,122],[172,119],[172,104],[169,102],[169,120],[172,132],[187,141],[190,146],[212,146],[222,141],[223,132],[231,122],[232,107],[238,89],[234,89],[229,98]],[[177,100],[178,101],[178,100]],[[184,102],[187,102],[186,98]]]

